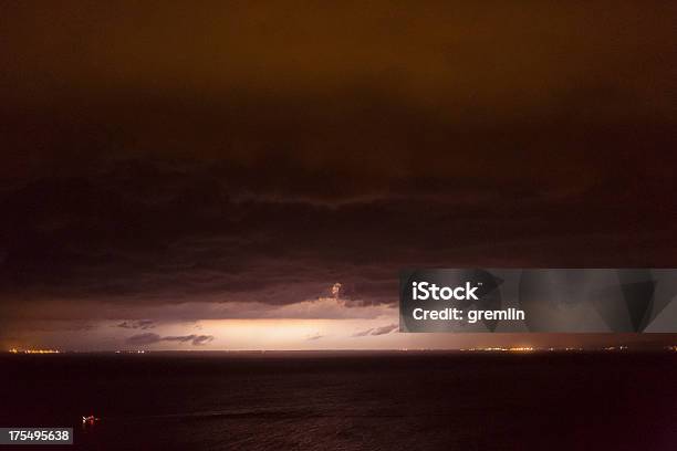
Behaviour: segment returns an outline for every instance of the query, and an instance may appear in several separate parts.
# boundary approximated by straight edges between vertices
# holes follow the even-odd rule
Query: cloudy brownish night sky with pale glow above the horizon
[[[0,346],[674,340],[395,325],[402,268],[675,266],[676,21],[639,1],[4,2]]]

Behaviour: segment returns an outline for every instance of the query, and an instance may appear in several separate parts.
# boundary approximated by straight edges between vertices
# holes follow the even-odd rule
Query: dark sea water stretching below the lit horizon
[[[62,449],[676,450],[676,364],[667,353],[7,355],[0,426],[75,427]],[[102,421],[83,429],[90,412]]]

